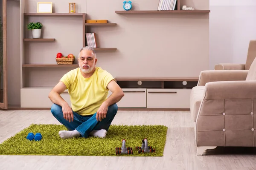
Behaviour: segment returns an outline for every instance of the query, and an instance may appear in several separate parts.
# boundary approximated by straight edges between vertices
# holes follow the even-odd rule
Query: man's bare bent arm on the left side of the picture
[[[68,103],[61,97],[62,94],[66,90],[66,85],[59,81],[57,85],[50,91],[49,99],[55,103],[56,105],[60,105],[64,107],[64,105],[68,105]]]

